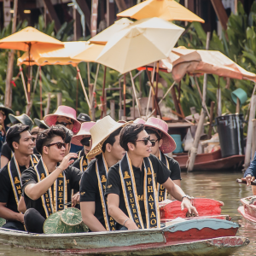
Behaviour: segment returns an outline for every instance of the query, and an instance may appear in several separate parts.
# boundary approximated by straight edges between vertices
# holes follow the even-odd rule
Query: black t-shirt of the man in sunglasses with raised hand
[[[75,168],[73,166],[68,166],[67,169],[63,172],[65,173],[67,179],[67,202],[69,202],[71,201],[71,189],[79,190],[79,181],[81,179],[82,172],[80,172],[78,168]],[[25,188],[28,184],[38,183],[38,176],[35,169],[33,167],[30,167],[26,169],[25,172],[22,172],[21,181],[26,209],[35,208],[44,218],[46,218],[41,197],[39,197],[38,200],[32,200],[25,193]],[[54,189],[52,186],[52,192],[53,190]]]

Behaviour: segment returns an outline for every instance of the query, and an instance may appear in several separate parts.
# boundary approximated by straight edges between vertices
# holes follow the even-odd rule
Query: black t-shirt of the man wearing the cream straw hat
[[[106,228],[102,212],[102,199],[96,175],[96,160],[91,160],[80,183],[80,201],[95,201],[94,216]]]

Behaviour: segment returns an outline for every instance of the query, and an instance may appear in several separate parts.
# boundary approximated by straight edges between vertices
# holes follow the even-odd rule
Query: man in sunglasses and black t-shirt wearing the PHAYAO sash
[[[170,170],[151,154],[150,136],[142,124],[129,124],[120,131],[120,145],[126,154],[108,171],[105,196],[108,214],[117,222],[117,230],[160,227],[156,183],[182,201],[181,208],[198,213],[189,195],[172,182]]]

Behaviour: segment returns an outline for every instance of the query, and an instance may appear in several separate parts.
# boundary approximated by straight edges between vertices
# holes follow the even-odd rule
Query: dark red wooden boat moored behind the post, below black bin
[[[188,153],[174,154],[172,156],[177,162],[182,171],[187,171],[187,162],[189,160]],[[230,168],[238,169],[241,167],[244,160],[244,155],[231,155],[222,158],[220,149],[205,154],[196,154],[195,171],[213,171],[213,170],[228,170]]]

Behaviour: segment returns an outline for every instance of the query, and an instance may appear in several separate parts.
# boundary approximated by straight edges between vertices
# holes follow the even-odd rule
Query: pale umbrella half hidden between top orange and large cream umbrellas
[[[131,25],[133,21],[123,18],[116,20],[113,25],[108,26],[102,32],[98,33],[95,37],[90,38],[90,43],[93,44],[107,44],[108,40],[113,36],[115,32],[119,32],[125,27]]]

